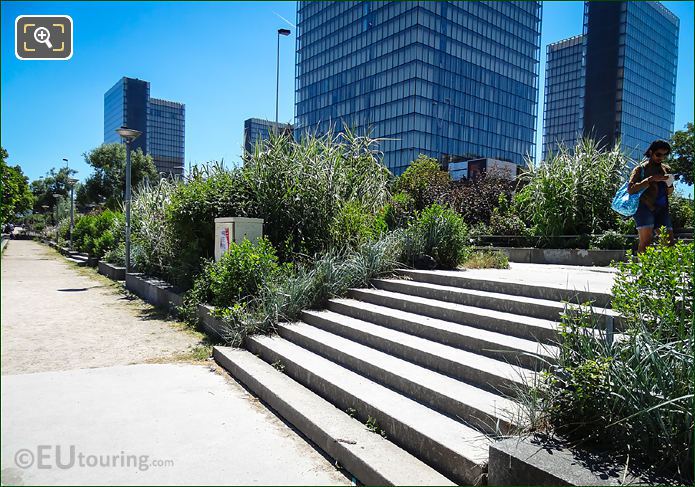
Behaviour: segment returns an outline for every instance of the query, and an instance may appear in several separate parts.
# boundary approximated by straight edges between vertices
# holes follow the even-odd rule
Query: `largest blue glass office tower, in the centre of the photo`
[[[371,130],[395,174],[421,153],[523,164],[535,152],[540,2],[297,5],[300,137]]]

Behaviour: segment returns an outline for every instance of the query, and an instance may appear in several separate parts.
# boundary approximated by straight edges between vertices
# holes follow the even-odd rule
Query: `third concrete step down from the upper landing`
[[[436,299],[421,298],[381,289],[351,289],[349,296],[359,301],[394,310],[470,325],[527,340],[538,340],[542,343],[558,343],[560,341],[558,323],[552,320],[541,320],[475,306],[446,303]],[[329,302],[329,308],[335,309],[333,303],[334,300]],[[339,311],[347,314],[343,307]],[[362,318],[364,315],[355,317]]]

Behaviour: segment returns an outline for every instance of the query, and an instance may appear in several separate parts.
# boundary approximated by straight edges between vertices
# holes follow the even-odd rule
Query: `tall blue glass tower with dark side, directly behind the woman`
[[[660,2],[585,2],[576,113],[584,135],[606,146],[620,140],[636,158],[671,136],[679,24]],[[544,133],[557,130],[550,122]]]

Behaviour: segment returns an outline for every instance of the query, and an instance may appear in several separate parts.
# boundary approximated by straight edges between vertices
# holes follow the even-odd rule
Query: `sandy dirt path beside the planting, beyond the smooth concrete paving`
[[[201,335],[129,299],[54,250],[13,240],[2,257],[2,374],[166,361]]]

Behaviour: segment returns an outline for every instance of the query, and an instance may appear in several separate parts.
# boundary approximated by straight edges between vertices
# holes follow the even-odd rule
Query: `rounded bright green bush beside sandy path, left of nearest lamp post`
[[[73,245],[91,257],[102,258],[106,252],[116,248],[125,238],[123,213],[105,210],[101,213],[83,215],[75,223]]]

